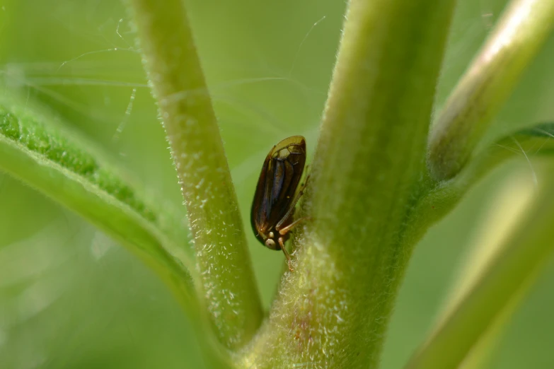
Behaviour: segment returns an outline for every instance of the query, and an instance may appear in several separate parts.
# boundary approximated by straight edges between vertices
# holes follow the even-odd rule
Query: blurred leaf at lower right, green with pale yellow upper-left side
[[[533,181],[511,181],[504,204],[495,206],[502,219],[491,221],[479,244],[487,254],[468,268],[460,291],[407,368],[454,369],[483,360],[554,251],[551,172],[552,165],[541,171],[538,188]]]

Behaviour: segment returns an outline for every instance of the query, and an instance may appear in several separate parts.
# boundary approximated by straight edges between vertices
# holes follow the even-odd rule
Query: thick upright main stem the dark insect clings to
[[[453,8],[454,1],[350,1],[306,193],[311,221],[244,365],[379,363],[416,242],[403,235],[425,178]]]

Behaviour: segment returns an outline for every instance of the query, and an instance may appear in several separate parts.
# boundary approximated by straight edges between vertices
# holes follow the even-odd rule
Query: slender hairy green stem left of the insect
[[[187,206],[205,304],[221,342],[236,348],[260,326],[262,308],[183,1],[130,4]]]

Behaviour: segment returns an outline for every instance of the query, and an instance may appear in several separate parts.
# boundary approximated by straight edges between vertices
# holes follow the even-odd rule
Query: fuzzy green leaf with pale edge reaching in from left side
[[[30,102],[0,101],[0,169],[121,242],[168,283],[187,312],[197,314],[187,237],[180,233],[175,241],[179,233],[169,231],[180,223],[179,214],[147,205],[100,157]]]

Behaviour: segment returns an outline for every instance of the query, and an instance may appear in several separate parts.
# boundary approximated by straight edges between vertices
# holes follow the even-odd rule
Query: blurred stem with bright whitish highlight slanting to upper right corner
[[[514,0],[439,113],[429,139],[435,180],[454,177],[554,25],[554,1]]]

